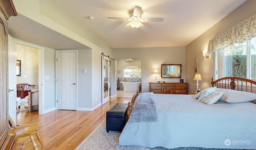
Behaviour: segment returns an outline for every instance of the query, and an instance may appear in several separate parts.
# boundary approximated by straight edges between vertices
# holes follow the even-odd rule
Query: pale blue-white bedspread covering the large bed
[[[158,122],[130,124],[128,121],[119,145],[256,148],[255,104],[218,101],[207,105],[192,97],[154,94]]]

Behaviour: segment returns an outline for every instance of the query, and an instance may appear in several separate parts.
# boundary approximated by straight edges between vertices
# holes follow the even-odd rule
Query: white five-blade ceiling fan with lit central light
[[[131,26],[134,29],[140,28],[142,31],[147,32],[148,29],[146,26],[142,24],[142,22],[162,22],[164,18],[141,18],[141,7],[135,6],[132,15],[129,19],[126,18],[116,18],[116,17],[108,17],[108,19],[118,19],[118,20],[127,20],[130,21],[128,24],[122,26],[119,30],[123,30],[124,28]]]

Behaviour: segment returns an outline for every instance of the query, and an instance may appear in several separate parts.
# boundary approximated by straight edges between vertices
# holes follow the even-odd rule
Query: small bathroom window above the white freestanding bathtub
[[[125,66],[124,77],[141,77],[141,67],[137,65]]]

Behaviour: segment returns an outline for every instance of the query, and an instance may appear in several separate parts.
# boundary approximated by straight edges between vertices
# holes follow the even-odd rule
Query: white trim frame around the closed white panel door
[[[68,49],[68,50],[56,50],[55,51],[55,110],[58,110],[58,85],[57,85],[57,73],[58,73],[58,52],[76,52],[76,111],[78,110],[78,50],[77,49]]]

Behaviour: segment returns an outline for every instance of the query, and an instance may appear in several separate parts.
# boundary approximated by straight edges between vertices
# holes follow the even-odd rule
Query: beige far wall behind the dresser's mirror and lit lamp
[[[149,82],[155,81],[154,69],[161,71],[161,64],[182,64],[182,79],[186,82],[186,47],[149,47],[114,49],[116,60],[126,57],[141,59],[142,92],[149,92]],[[118,66],[118,64],[117,64]],[[157,74],[157,80],[161,73]],[[180,79],[163,78],[166,82]]]

